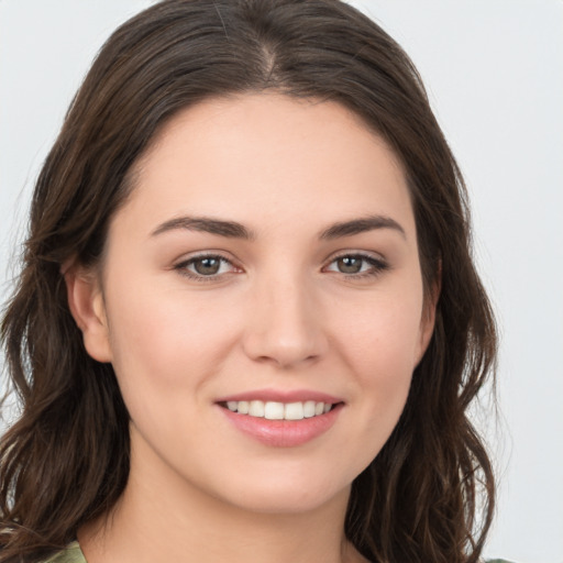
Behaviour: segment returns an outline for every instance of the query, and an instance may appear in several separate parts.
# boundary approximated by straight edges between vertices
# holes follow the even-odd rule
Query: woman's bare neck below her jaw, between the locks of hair
[[[211,497],[174,472],[151,474],[132,454],[111,514],[79,530],[89,563],[342,563],[364,561],[344,538],[350,490],[297,514],[257,512]]]

